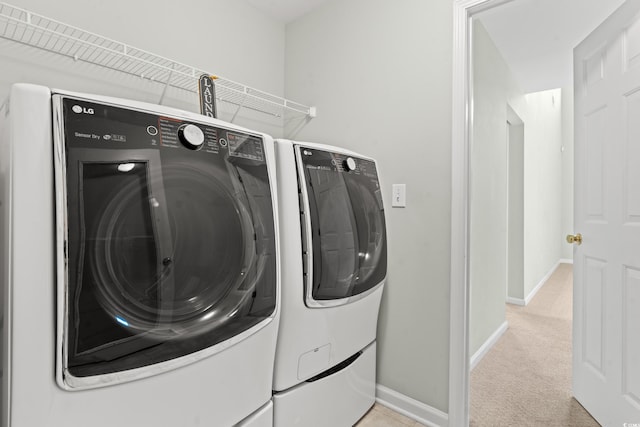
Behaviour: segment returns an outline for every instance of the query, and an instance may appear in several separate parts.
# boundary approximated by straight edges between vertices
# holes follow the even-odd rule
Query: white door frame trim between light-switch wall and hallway
[[[469,147],[473,125],[473,15],[516,0],[454,0],[451,129],[450,427],[469,425]]]

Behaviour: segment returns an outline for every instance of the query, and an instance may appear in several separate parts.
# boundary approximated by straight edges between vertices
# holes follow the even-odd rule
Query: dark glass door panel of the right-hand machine
[[[387,243],[376,164],[364,158],[296,147],[306,304],[356,301],[384,282]]]

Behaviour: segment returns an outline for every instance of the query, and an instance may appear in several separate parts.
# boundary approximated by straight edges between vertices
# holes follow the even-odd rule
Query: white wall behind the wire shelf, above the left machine
[[[32,12],[282,96],[284,24],[235,0],[19,0]],[[0,39],[0,99],[15,82],[157,103],[163,86]],[[195,88],[195,86],[194,86]],[[197,95],[169,90],[164,104],[198,111]],[[234,109],[220,105],[229,120]],[[236,123],[280,136],[281,118],[242,110]]]

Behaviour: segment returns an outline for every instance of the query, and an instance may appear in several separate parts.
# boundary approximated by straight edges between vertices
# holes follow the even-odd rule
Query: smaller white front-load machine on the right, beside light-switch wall
[[[376,328],[387,272],[376,162],[276,140],[282,313],[274,424],[348,426],[375,401]]]

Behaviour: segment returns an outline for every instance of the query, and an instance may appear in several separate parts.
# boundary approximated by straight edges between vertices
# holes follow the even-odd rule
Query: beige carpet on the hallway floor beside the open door
[[[471,372],[471,426],[599,424],[571,396],[572,266],[561,264]]]

